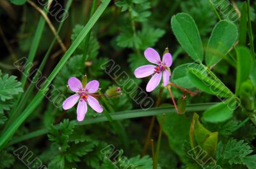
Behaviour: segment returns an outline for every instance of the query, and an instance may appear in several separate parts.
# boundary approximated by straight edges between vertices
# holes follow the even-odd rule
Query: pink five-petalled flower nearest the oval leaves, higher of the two
[[[170,53],[164,54],[161,61],[159,54],[154,50],[154,48],[147,48],[144,55],[149,62],[156,65],[147,64],[140,66],[134,71],[135,77],[143,78],[154,74],[146,87],[146,91],[151,92],[156,89],[157,85],[159,85],[163,73],[163,82],[164,86],[166,86],[170,79],[170,71],[168,69],[172,65],[172,55]]]

